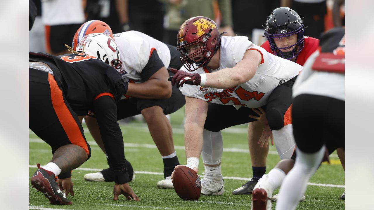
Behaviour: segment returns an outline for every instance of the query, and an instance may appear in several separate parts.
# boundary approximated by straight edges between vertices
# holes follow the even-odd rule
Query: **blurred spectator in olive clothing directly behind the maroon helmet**
[[[162,0],[166,3],[166,23],[164,43],[177,46],[178,30],[184,21],[195,16],[211,18],[220,25],[219,31],[227,32],[233,36],[231,0]],[[215,6],[218,3],[220,14],[215,13]],[[271,11],[271,10],[270,10]],[[216,21],[216,17],[221,17]],[[219,24],[220,23],[220,24]]]

